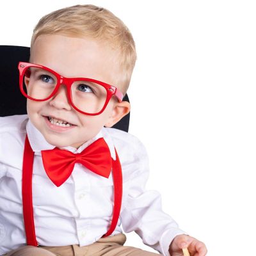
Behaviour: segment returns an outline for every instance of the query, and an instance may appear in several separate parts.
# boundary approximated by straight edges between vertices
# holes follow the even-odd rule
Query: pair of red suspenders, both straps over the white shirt
[[[113,233],[118,222],[122,205],[122,168],[116,153],[116,161],[112,159],[112,173],[114,184],[114,207],[113,218],[108,232],[103,236],[109,236]],[[24,156],[22,166],[22,203],[23,203],[23,217],[24,226],[27,237],[27,244],[38,246],[35,234],[35,223],[33,214],[33,201],[32,201],[32,174],[33,174],[33,161],[34,152],[30,146],[28,135],[26,136],[24,145]]]

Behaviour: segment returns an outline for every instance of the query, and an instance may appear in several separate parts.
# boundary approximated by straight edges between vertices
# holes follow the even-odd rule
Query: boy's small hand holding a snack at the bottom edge
[[[183,256],[182,248],[188,248],[190,256],[205,256],[207,253],[204,243],[191,236],[179,235],[174,237],[172,243],[170,244],[170,255]]]

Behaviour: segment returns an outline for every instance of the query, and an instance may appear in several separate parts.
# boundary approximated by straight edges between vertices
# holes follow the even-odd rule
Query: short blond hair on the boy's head
[[[88,36],[107,42],[118,52],[121,74],[117,81],[122,92],[127,91],[136,62],[136,49],[129,29],[113,13],[92,4],[75,5],[51,12],[36,24],[31,49],[38,36],[52,34]]]

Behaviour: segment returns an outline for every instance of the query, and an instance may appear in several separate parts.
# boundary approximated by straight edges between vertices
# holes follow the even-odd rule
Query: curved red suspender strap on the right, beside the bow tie
[[[116,149],[115,149],[115,152],[116,152]],[[102,237],[111,235],[115,230],[116,224],[120,215],[121,205],[122,205],[122,191],[123,191],[122,168],[121,168],[121,164],[120,164],[117,152],[116,152],[116,161],[112,159],[112,176],[113,176],[113,184],[114,184],[113,217],[112,217],[112,222],[108,232],[106,232],[106,234]]]

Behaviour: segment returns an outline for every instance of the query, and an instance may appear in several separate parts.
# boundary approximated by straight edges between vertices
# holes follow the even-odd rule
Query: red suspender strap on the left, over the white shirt
[[[37,246],[33,202],[32,202],[32,173],[34,152],[30,146],[28,135],[26,136],[22,167],[22,203],[23,218],[27,237],[27,244]]]

